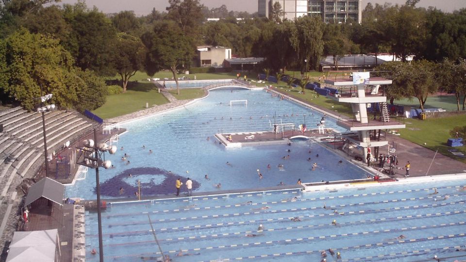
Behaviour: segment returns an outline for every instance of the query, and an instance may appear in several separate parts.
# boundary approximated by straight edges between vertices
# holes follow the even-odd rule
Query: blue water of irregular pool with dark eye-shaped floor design
[[[248,106],[230,106],[230,100],[242,99],[248,100]],[[295,141],[291,146],[225,148],[214,137],[219,132],[270,131],[274,121],[294,123],[296,127],[306,123],[308,128],[316,128],[321,117],[309,108],[272,98],[264,90],[210,91],[207,98],[183,108],[124,124],[128,131],[120,135],[116,143],[123,150],[106,156],[115,168],[100,169],[102,197],[133,196],[137,179],[143,187],[149,188],[163,185],[171,175],[182,176],[183,182],[187,177],[198,182],[200,185],[195,192],[216,191],[217,183],[221,183],[222,190],[234,190],[276,186],[281,181],[291,185],[298,179],[315,182],[365,178],[365,171],[347,161],[338,164],[339,156],[310,140]],[[331,118],[327,118],[326,125],[345,131]],[[130,164],[121,160],[124,153]],[[290,155],[289,160],[283,160],[286,155]],[[311,162],[307,161],[309,157]],[[314,171],[311,170],[312,163],[318,164]],[[278,164],[283,164],[284,168],[279,169]],[[157,170],[144,169],[146,167]],[[263,179],[259,179],[257,169]],[[128,178],[130,173],[133,176]],[[204,179],[206,174],[210,180]],[[120,187],[125,188],[123,195],[118,195]],[[170,193],[174,193],[174,183],[170,182],[168,187]],[[91,170],[85,180],[67,186],[66,193],[68,197],[95,199],[94,188],[95,176]],[[154,189],[144,194],[163,192]]]

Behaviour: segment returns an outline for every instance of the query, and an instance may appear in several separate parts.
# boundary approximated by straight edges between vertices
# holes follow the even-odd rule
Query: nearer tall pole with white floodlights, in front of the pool
[[[102,219],[100,213],[100,181],[99,181],[99,167],[102,166],[105,169],[112,166],[110,160],[105,160],[105,152],[110,154],[116,153],[116,146],[108,146],[105,143],[95,145],[94,141],[97,141],[97,130],[94,129],[94,140],[85,140],[84,147],[76,147],[78,150],[78,156],[76,157],[76,164],[84,165],[90,168],[96,169],[96,193],[97,193],[97,222],[99,227],[99,257],[100,262],[103,262],[103,244],[102,244]]]

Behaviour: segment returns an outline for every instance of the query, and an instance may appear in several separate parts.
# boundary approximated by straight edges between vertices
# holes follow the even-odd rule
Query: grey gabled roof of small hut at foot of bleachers
[[[45,197],[50,201],[63,205],[64,192],[65,186],[63,184],[50,178],[43,178],[29,188],[24,206],[31,204],[40,197]]]

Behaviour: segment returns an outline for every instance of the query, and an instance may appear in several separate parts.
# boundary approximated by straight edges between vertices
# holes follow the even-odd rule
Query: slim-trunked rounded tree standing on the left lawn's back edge
[[[127,33],[118,33],[113,64],[121,77],[123,93],[126,92],[130,78],[138,70],[144,69],[146,52],[146,47],[140,38]]]

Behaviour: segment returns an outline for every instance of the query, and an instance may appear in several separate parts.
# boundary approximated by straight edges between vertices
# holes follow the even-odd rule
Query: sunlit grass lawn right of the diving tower
[[[466,163],[465,158],[456,157],[451,154],[448,149],[458,149],[465,153],[466,147],[449,147],[447,140],[451,138],[450,130],[456,126],[466,125],[466,115],[455,115],[442,118],[431,118],[419,120],[415,118],[406,119],[406,129],[400,129],[401,137],[413,143],[432,149],[438,149],[439,153],[451,158],[461,160]],[[426,143],[426,145],[424,145]]]

